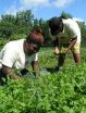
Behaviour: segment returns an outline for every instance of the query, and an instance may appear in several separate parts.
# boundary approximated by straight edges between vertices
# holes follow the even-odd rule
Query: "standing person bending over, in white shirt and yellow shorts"
[[[64,63],[65,54],[71,50],[75,63],[81,64],[81,29],[78,24],[72,18],[52,17],[49,20],[49,28],[52,36],[58,36],[54,40],[54,54],[59,54],[57,70]],[[64,51],[62,53],[62,48]]]

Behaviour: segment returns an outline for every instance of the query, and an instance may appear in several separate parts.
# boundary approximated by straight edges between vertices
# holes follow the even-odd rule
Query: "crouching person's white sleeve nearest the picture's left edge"
[[[3,58],[2,58],[2,64],[8,67],[13,67],[13,64],[15,63],[15,59],[17,58],[16,52],[13,48],[8,47],[4,50]]]

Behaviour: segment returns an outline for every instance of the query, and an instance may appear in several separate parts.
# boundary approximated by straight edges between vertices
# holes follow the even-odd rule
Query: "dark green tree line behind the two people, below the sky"
[[[64,11],[60,15],[62,18],[73,17],[70,13]],[[84,22],[77,22],[81,27],[83,40],[86,37],[86,25]],[[20,39],[19,36],[26,36],[29,32],[39,26],[45,36],[45,46],[52,46],[51,34],[49,32],[48,21],[42,18],[35,18],[32,10],[16,12],[15,15],[1,15],[0,20],[0,38],[2,39]],[[16,37],[14,37],[16,36]]]

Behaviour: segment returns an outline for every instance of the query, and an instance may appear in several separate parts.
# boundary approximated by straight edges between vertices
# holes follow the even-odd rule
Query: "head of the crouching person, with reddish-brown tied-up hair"
[[[40,30],[33,30],[25,40],[25,53],[32,55],[39,51],[40,47],[44,45],[44,36]]]

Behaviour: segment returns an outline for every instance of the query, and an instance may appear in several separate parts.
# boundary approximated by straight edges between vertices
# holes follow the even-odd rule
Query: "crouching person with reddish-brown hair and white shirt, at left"
[[[22,71],[29,65],[34,71],[38,70],[38,51],[42,43],[44,36],[39,29],[30,32],[26,39],[8,42],[0,51],[0,80],[7,75],[20,78],[14,70]]]

